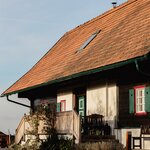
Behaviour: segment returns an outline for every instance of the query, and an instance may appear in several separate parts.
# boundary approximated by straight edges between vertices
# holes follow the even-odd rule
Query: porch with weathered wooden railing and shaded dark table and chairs
[[[16,129],[15,143],[26,142],[27,137],[31,137],[29,132],[32,127],[27,121],[28,116],[24,116]],[[93,114],[90,116],[80,117],[76,111],[59,112],[56,114],[56,129],[58,134],[71,136],[75,143],[87,141],[100,141],[114,139],[110,135],[110,126],[104,123],[102,115]],[[46,138],[43,129],[45,125],[39,120],[38,135],[41,140]]]

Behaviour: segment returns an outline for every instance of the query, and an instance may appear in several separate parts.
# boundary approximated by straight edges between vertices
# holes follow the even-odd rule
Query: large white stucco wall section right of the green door
[[[87,115],[97,113],[104,116],[113,129],[117,116],[117,86],[115,84],[103,84],[89,86],[86,93]],[[114,130],[112,130],[114,134]]]

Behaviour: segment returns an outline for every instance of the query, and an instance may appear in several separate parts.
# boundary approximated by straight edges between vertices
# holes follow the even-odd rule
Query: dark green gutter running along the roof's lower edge
[[[2,94],[1,97],[16,94],[16,93],[19,93],[19,92],[25,92],[25,91],[28,91],[28,90],[32,90],[32,89],[39,88],[39,87],[46,86],[46,85],[50,85],[50,84],[60,83],[60,82],[63,82],[63,81],[67,81],[67,80],[70,80],[70,79],[75,79],[75,78],[82,77],[82,76],[85,76],[85,75],[90,75],[90,74],[94,74],[94,73],[98,73],[98,72],[102,72],[102,71],[106,71],[106,70],[110,70],[110,69],[119,68],[119,67],[122,67],[122,66],[125,66],[125,65],[128,65],[128,64],[131,64],[131,63],[135,63],[136,61],[147,60],[148,58],[150,58],[150,52],[143,55],[143,56],[140,56],[140,57],[136,57],[136,58],[132,58],[132,59],[129,59],[129,60],[117,62],[117,63],[110,64],[110,65],[107,65],[107,66],[102,66],[102,67],[95,68],[95,69],[92,69],[92,70],[83,71],[83,72],[76,73],[76,74],[73,74],[73,75],[69,75],[69,76],[66,76],[66,77],[62,77],[62,78],[54,79],[54,80],[51,80],[51,81],[48,81],[48,82],[44,82],[42,84],[35,85],[35,86],[32,86],[32,87],[28,87],[28,88],[25,88],[25,89],[21,89],[21,90],[13,91],[13,92],[10,92],[10,93]]]

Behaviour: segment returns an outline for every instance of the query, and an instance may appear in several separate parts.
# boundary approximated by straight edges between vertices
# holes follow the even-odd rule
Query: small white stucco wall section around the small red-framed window
[[[72,101],[73,101],[73,93],[72,91],[67,92],[58,92],[57,94],[57,103],[61,100],[66,100],[66,111],[72,110]]]

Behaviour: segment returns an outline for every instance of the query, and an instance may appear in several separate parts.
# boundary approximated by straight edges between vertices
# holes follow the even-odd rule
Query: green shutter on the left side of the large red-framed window
[[[134,89],[129,90],[129,112],[134,113]]]

